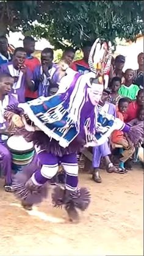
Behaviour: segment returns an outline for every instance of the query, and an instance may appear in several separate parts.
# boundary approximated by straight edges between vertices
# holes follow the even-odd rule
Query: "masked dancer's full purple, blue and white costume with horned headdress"
[[[21,133],[27,141],[34,142],[37,150],[38,161],[34,159],[21,174],[16,174],[13,181],[14,192],[20,199],[31,204],[41,202],[46,196],[46,181],[56,175],[61,163],[66,172],[66,183],[64,188],[57,186],[54,189],[54,207],[63,205],[72,218],[77,218],[76,208],[83,211],[88,207],[90,193],[87,188],[78,188],[76,153],[84,145],[103,144],[115,129],[129,130],[128,125],[115,117],[107,119],[107,116],[98,115],[95,108],[103,92],[104,75],[110,69],[110,62],[110,45],[97,39],[89,56],[92,72],[76,73],[65,93],[40,97],[19,104],[18,108],[11,106],[7,109],[21,115],[25,125]],[[26,123],[23,113],[33,126]]]

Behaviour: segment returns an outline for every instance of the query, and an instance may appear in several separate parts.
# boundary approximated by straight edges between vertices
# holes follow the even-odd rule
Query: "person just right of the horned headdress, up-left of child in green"
[[[124,73],[123,73],[123,67],[125,64],[125,57],[123,55],[118,55],[115,58],[115,62],[114,62],[114,69],[111,66],[111,70],[110,70],[110,75],[109,75],[109,79],[110,81],[112,80],[112,78],[114,76],[118,76],[119,78],[121,78],[121,83],[124,83]]]

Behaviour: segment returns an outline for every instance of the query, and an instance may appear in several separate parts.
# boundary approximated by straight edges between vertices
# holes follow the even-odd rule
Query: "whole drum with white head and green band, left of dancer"
[[[7,140],[7,147],[12,154],[12,170],[16,173],[31,163],[35,150],[32,142],[27,142],[23,136],[13,135]]]

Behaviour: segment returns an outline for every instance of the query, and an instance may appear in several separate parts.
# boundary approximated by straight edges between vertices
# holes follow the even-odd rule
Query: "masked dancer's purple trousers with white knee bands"
[[[57,174],[59,164],[62,164],[66,173],[66,188],[74,191],[78,185],[78,164],[75,153],[63,155],[62,157],[52,155],[46,151],[39,152],[38,159],[41,169],[32,175],[32,181],[35,185],[43,185],[46,181],[51,180]]]

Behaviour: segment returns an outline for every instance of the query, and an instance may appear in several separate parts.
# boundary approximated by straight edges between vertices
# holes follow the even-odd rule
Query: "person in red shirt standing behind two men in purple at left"
[[[26,60],[25,60],[24,64],[26,65],[27,68],[29,68],[29,70],[31,70],[33,72],[35,67],[40,65],[40,60],[38,60],[36,57],[33,57],[31,55],[35,51],[34,38],[33,37],[24,37],[23,46],[26,51]],[[26,88],[25,98],[26,98],[26,101],[34,100],[34,98],[37,98],[37,92],[32,92],[31,90]]]

